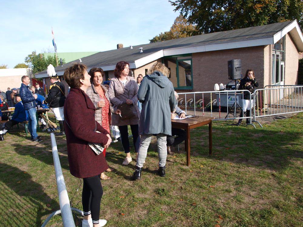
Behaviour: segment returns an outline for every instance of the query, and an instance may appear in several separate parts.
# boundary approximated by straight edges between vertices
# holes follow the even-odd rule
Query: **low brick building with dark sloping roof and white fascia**
[[[142,49],[142,52],[140,49]],[[285,21],[270,25],[221,31],[133,47],[117,45],[82,58],[82,64],[101,67],[103,80],[114,77],[118,61],[130,63],[130,76],[145,75],[155,62],[164,63],[170,70],[169,79],[178,92],[211,91],[215,83],[227,84],[228,60],[240,59],[242,74],[248,68],[255,71],[259,87],[272,84],[297,84],[298,59],[303,51],[303,36],[298,23]],[[55,70],[62,77],[70,64]],[[46,71],[35,77],[48,77]],[[61,80],[64,82],[63,77]],[[47,85],[49,81],[46,80]],[[67,85],[66,85],[67,86]]]

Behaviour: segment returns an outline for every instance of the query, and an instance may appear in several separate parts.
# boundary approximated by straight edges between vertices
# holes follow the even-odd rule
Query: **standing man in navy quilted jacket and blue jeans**
[[[42,141],[41,137],[37,134],[37,119],[36,119],[36,102],[37,95],[33,94],[29,89],[30,79],[28,76],[21,78],[22,84],[20,87],[20,97],[24,106],[25,111],[28,113],[28,130],[31,133],[33,142]]]

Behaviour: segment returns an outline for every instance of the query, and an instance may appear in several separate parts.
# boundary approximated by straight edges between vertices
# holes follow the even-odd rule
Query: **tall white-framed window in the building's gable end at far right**
[[[271,71],[271,84],[283,84],[285,62],[285,36],[273,45]]]

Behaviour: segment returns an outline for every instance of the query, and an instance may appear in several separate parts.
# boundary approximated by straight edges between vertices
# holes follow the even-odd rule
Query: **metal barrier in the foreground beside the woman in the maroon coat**
[[[65,186],[65,181],[61,169],[61,164],[59,160],[58,150],[57,150],[57,144],[55,139],[55,134],[51,133],[51,145],[52,145],[52,153],[53,153],[53,159],[54,159],[54,166],[55,166],[55,173],[56,173],[56,181],[57,181],[57,188],[58,188],[58,197],[59,197],[59,204],[60,204],[60,210],[57,210],[50,214],[47,219],[43,222],[41,227],[46,226],[46,224],[49,222],[49,220],[58,214],[61,214],[63,226],[64,227],[75,227],[75,222],[72,215],[72,210],[79,213],[80,215],[84,215],[83,211],[72,208],[69,203],[68,194]]]

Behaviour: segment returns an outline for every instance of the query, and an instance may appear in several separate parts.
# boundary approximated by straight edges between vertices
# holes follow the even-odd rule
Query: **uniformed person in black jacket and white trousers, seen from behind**
[[[59,77],[57,74],[49,75],[49,79],[52,83],[48,91],[48,96],[45,99],[45,103],[52,109],[55,114],[56,119],[59,121],[60,133],[56,133],[56,136],[61,136],[65,134],[64,131],[64,113],[63,107],[65,102],[65,87],[59,82]]]

